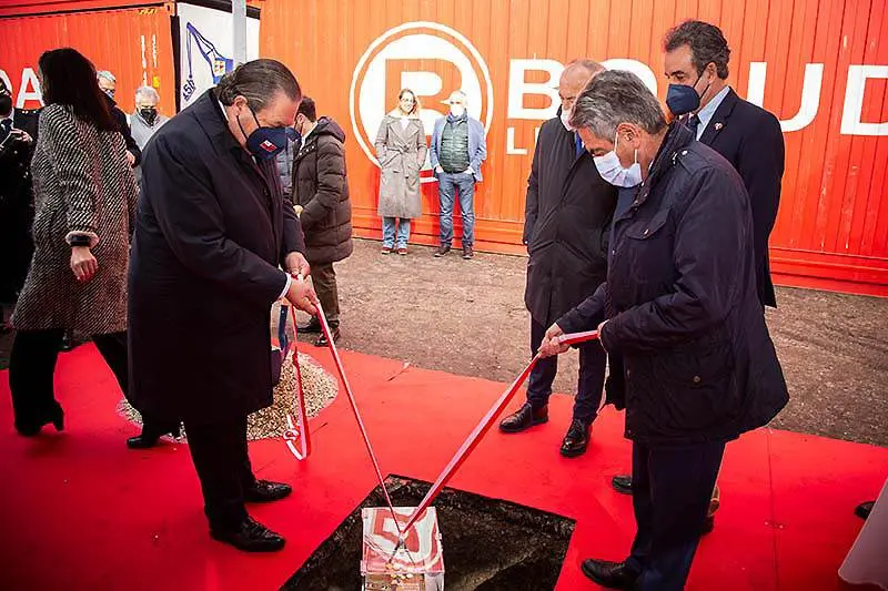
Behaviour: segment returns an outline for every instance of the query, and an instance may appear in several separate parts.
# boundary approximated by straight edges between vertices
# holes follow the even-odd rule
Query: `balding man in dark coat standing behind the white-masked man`
[[[567,64],[558,81],[558,116],[543,124],[534,150],[524,214],[524,244],[529,255],[524,303],[531,313],[532,356],[546,328],[595,292],[607,272],[607,234],[617,192],[598,174],[579,136],[566,123],[577,95],[603,70],[592,60]],[[574,417],[561,447],[564,457],[581,456],[588,447],[606,364],[607,355],[597,340],[579,346]],[[527,401],[503,419],[501,431],[522,432],[548,420],[548,398],[557,371],[556,357],[537,361],[527,385]]]

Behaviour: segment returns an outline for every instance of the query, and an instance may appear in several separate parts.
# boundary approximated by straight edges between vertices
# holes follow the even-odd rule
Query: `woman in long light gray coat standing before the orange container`
[[[382,254],[396,247],[397,254],[406,255],[410,221],[423,213],[420,170],[428,146],[416,95],[404,89],[397,99],[397,109],[385,115],[376,134],[376,157],[382,169],[379,214],[382,217]]]

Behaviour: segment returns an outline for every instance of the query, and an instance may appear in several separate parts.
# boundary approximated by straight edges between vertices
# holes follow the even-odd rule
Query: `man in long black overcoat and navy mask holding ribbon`
[[[284,540],[244,503],[291,492],[258,480],[246,449],[246,416],[272,404],[271,306],[316,313],[274,165],[301,99],[285,65],[255,60],[161,128],[142,160],[130,263],[128,398],[164,429],[184,422],[211,536],[254,552]]]

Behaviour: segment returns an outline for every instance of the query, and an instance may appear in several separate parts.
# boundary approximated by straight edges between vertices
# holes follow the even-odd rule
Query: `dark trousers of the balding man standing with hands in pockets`
[[[546,326],[531,318],[531,355],[536,355]],[[602,391],[604,390],[604,373],[607,366],[607,354],[597,340],[579,345],[579,377],[574,398],[574,418],[585,424],[591,424],[598,416],[602,406]],[[552,396],[552,383],[558,373],[557,356],[547,357],[536,361],[527,383],[527,401],[534,409],[548,404]]]

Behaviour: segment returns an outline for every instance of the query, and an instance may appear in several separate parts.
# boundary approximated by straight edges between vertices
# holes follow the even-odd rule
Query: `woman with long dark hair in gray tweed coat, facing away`
[[[63,428],[52,374],[65,329],[92,335],[127,391],[127,267],[138,194],[92,63],[57,49],[39,67],[47,106],[31,162],[34,254],[12,314],[9,361],[16,429],[24,436],[49,422]]]

